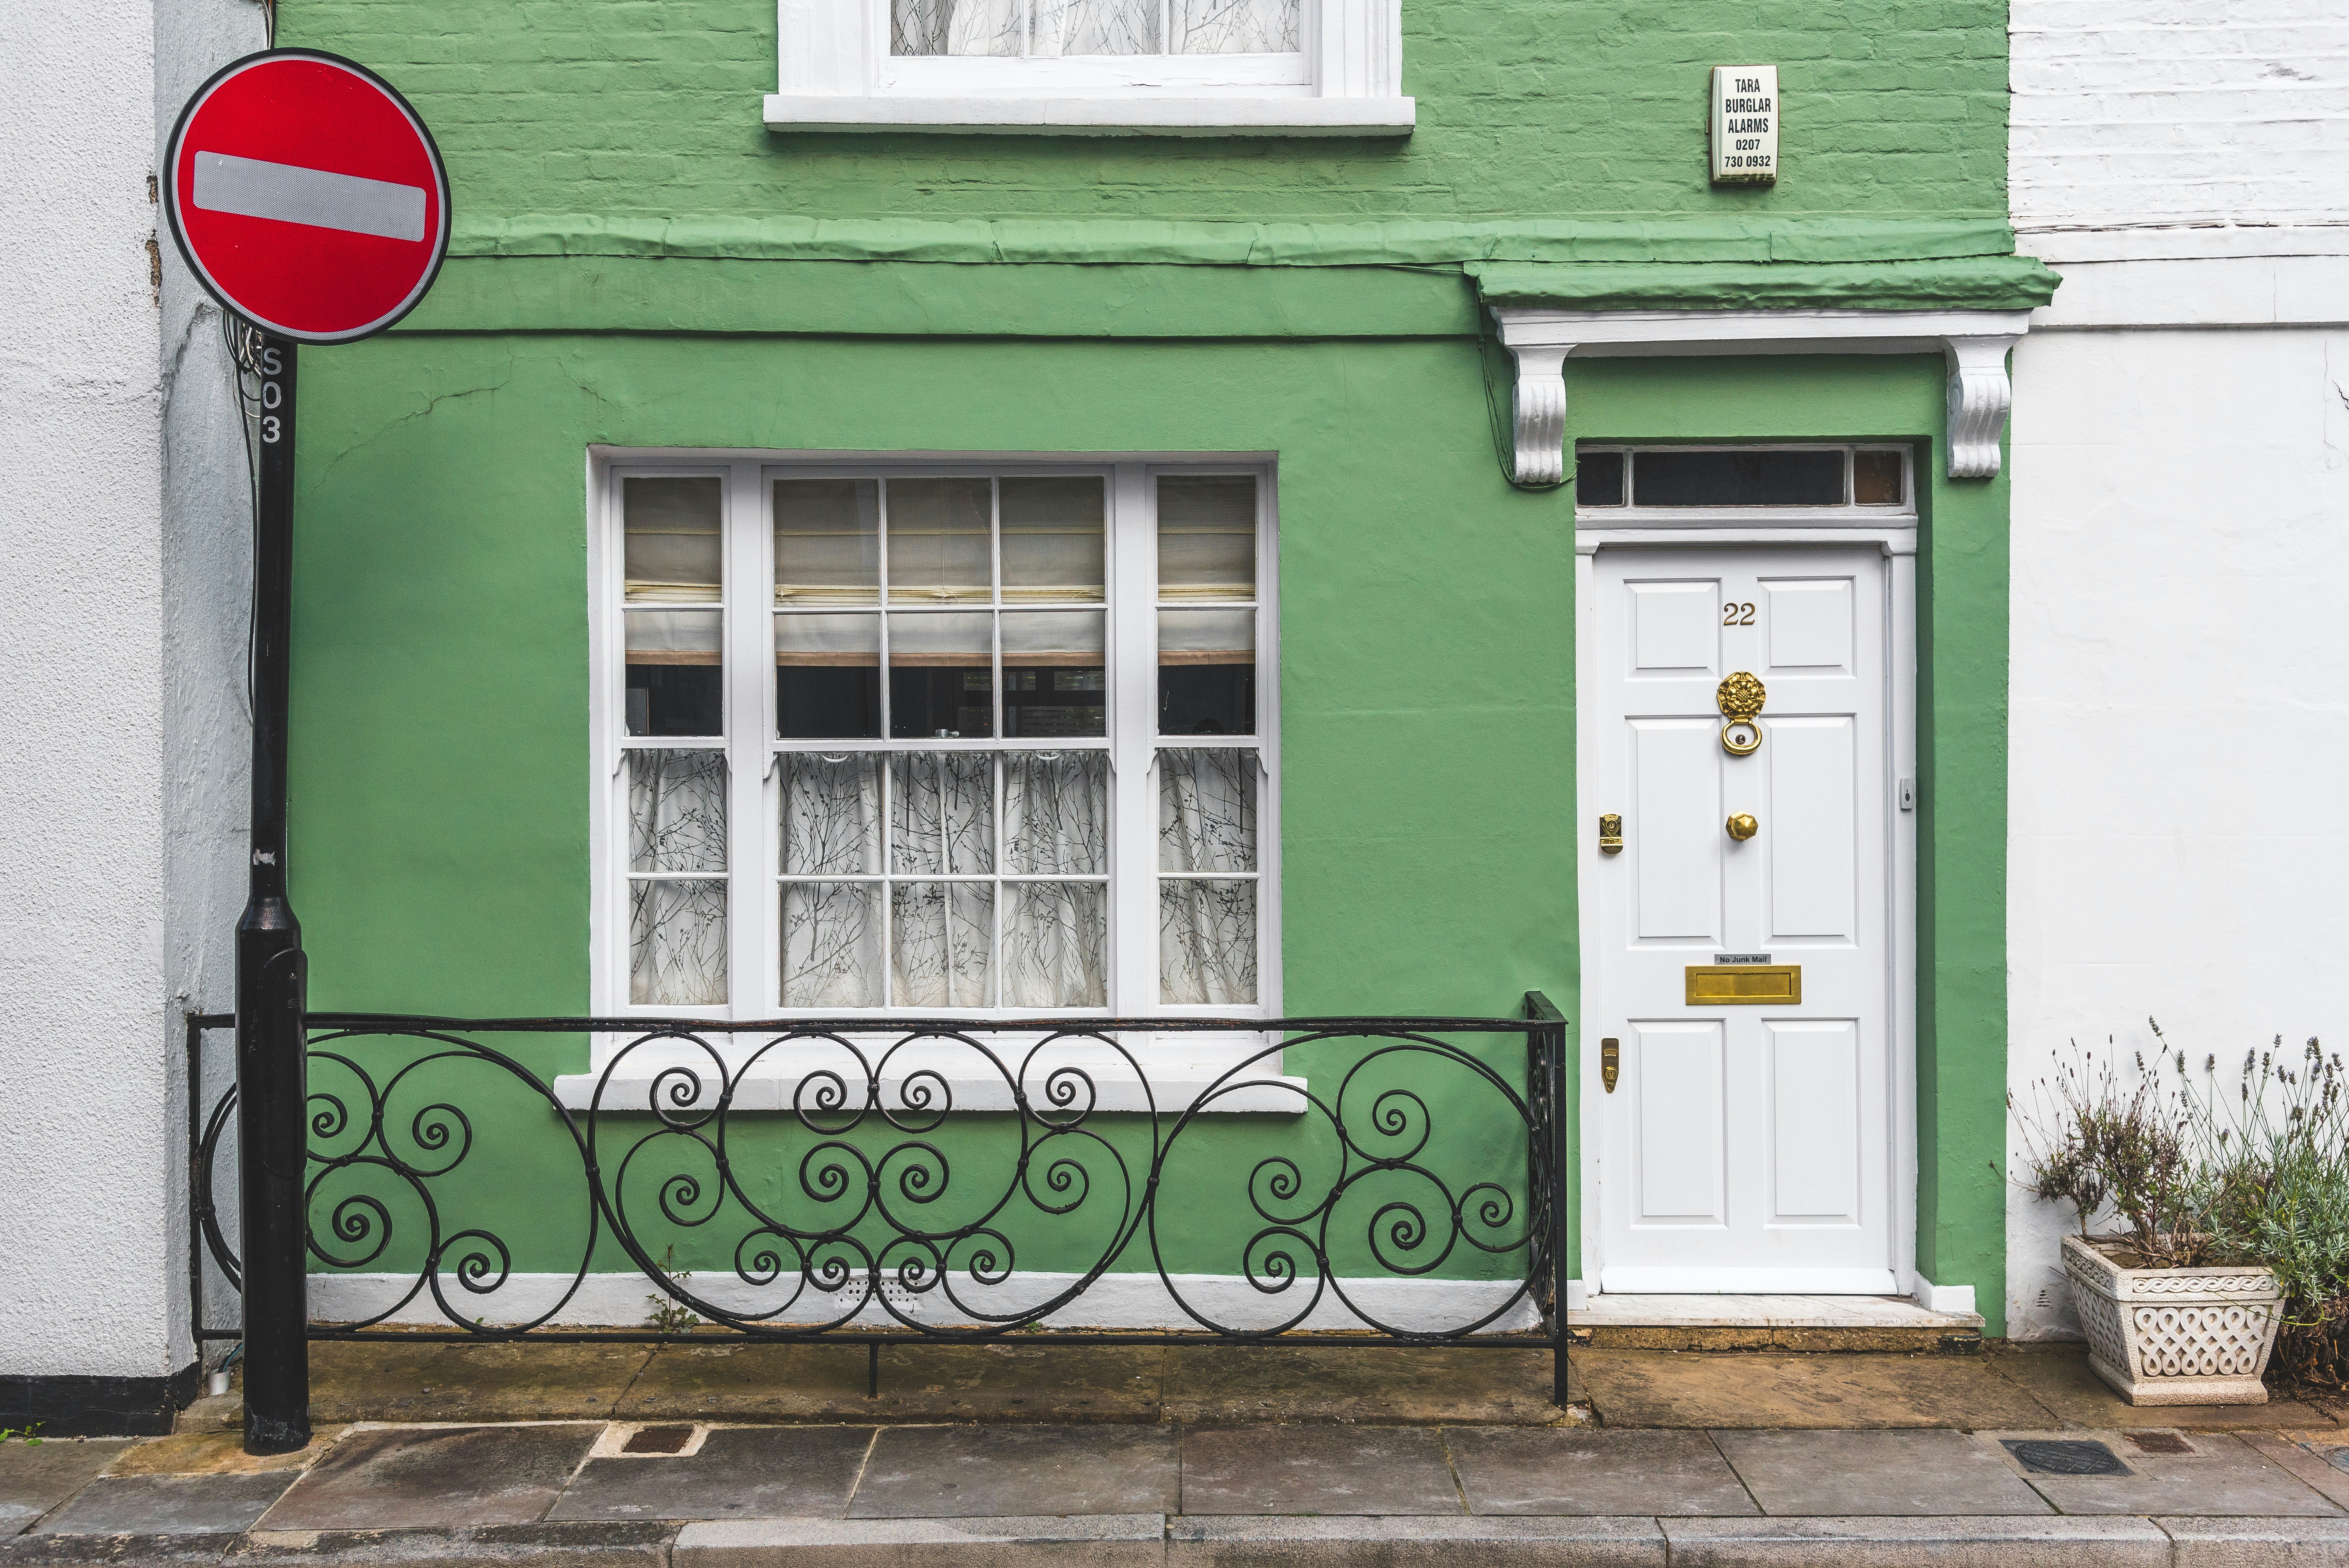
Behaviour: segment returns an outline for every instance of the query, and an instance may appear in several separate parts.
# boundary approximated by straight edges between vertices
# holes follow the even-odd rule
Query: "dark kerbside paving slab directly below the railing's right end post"
[[[1473,1514],[1759,1514],[1703,1432],[1445,1427]]]

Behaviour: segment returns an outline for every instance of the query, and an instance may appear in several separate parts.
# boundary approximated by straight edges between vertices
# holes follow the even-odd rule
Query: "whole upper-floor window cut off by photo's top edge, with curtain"
[[[782,0],[778,131],[1407,136],[1400,0]]]

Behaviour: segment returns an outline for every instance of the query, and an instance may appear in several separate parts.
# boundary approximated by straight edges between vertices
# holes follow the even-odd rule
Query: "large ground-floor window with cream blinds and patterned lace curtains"
[[[615,462],[601,509],[606,1012],[1273,1005],[1266,467]]]

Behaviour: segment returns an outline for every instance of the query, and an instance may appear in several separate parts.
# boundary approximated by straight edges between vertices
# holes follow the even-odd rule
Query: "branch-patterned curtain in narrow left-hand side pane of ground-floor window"
[[[627,995],[653,1007],[726,1002],[726,753],[627,753]],[[681,878],[707,871],[714,878]]]

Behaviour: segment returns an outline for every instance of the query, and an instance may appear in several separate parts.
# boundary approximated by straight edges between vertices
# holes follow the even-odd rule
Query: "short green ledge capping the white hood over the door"
[[[1487,305],[1553,310],[2034,310],[2060,282],[2037,256],[1877,263],[1470,261]]]

